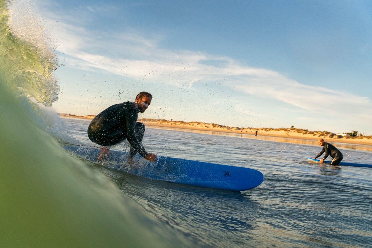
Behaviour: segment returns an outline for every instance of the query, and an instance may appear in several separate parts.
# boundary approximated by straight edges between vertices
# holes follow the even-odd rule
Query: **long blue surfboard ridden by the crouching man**
[[[158,156],[156,162],[141,158],[138,154],[135,160],[138,164],[130,166],[126,163],[128,152],[112,151],[105,161],[97,161],[101,149],[83,146],[63,146],[87,160],[102,164],[114,170],[138,175],[140,177],[192,186],[244,191],[253,189],[263,182],[260,171],[246,167],[212,164],[181,158]]]

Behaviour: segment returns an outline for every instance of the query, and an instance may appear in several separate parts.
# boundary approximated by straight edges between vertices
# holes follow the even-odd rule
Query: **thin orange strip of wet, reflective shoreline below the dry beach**
[[[203,130],[182,129],[182,128],[166,128],[166,127],[155,127],[155,126],[147,126],[147,127],[156,128],[156,129],[167,129],[167,130],[174,130],[174,131],[190,132],[190,133],[204,133],[204,134],[213,134],[213,135],[222,135],[222,136],[239,136],[239,137],[248,138],[248,139],[260,139],[260,140],[266,140],[266,141],[277,141],[277,142],[285,142],[285,143],[292,143],[292,144],[318,146],[318,141],[311,140],[311,139],[282,138],[282,137],[262,136],[262,135],[257,135],[257,137],[254,137],[253,134],[227,133],[227,132],[203,131]],[[330,142],[330,143],[333,143],[333,142]],[[340,143],[340,142],[334,142],[334,143],[337,143],[337,148],[340,148],[340,149],[372,151],[371,145],[347,144],[347,143]]]

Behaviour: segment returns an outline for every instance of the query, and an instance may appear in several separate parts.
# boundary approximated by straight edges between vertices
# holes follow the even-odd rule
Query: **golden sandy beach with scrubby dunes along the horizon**
[[[60,114],[62,117],[73,117],[81,119],[93,119],[94,115],[79,116],[79,115],[67,115]],[[210,132],[225,132],[225,133],[238,133],[241,135],[254,135],[257,131],[257,136],[267,137],[278,137],[278,138],[290,138],[290,139],[304,139],[316,141],[319,138],[323,138],[325,142],[339,142],[346,144],[366,145],[372,146],[372,136],[341,136],[336,133],[327,131],[308,131],[298,128],[239,128],[218,125],[215,123],[204,123],[204,122],[183,122],[183,121],[170,121],[160,119],[138,119],[138,121],[145,124],[148,127],[156,128],[173,128],[180,129],[180,131],[198,130],[198,131],[210,131]]]

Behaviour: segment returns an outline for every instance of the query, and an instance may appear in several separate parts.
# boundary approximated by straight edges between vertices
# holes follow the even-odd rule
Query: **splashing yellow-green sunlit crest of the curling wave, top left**
[[[60,87],[52,75],[58,65],[55,52],[47,44],[35,46],[27,38],[40,33],[35,25],[15,28],[7,7],[13,1],[0,1],[0,77],[15,96],[33,97],[38,103],[51,106],[58,100]],[[27,30],[27,31],[25,31]]]

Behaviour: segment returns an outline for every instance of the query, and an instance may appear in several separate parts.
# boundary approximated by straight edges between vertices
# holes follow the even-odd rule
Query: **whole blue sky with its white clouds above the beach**
[[[371,1],[39,1],[57,112],[372,135]]]

